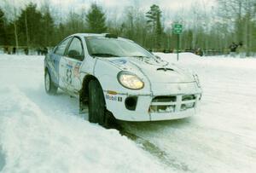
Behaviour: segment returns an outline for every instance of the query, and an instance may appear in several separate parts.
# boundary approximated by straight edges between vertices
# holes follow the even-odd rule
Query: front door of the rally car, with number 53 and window
[[[84,61],[84,47],[79,37],[73,37],[73,40],[67,48],[65,60],[65,89],[73,93],[77,93],[82,84],[80,78],[80,68],[82,61]]]

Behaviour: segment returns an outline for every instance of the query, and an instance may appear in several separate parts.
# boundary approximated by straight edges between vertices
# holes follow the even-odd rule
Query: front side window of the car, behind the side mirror
[[[83,44],[78,37],[73,37],[73,40],[67,50],[67,56],[79,61],[84,60]]]

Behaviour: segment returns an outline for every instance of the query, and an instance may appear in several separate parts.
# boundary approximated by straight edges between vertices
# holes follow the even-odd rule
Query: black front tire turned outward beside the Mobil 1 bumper
[[[106,102],[101,84],[96,80],[89,83],[89,121],[109,128],[113,123],[113,115],[106,109]]]

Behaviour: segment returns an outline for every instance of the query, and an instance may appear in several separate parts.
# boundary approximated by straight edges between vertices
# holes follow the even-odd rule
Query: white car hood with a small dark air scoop
[[[101,58],[102,59],[102,58]],[[190,72],[161,59],[142,57],[118,57],[102,59],[119,67],[122,71],[133,72],[139,77],[146,77],[153,83],[192,83],[195,78]]]

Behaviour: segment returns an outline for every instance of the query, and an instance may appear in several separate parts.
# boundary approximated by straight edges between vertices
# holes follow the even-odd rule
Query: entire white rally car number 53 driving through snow
[[[58,88],[88,104],[89,121],[155,121],[189,117],[201,99],[197,75],[113,34],[73,34],[44,60],[45,90]]]

